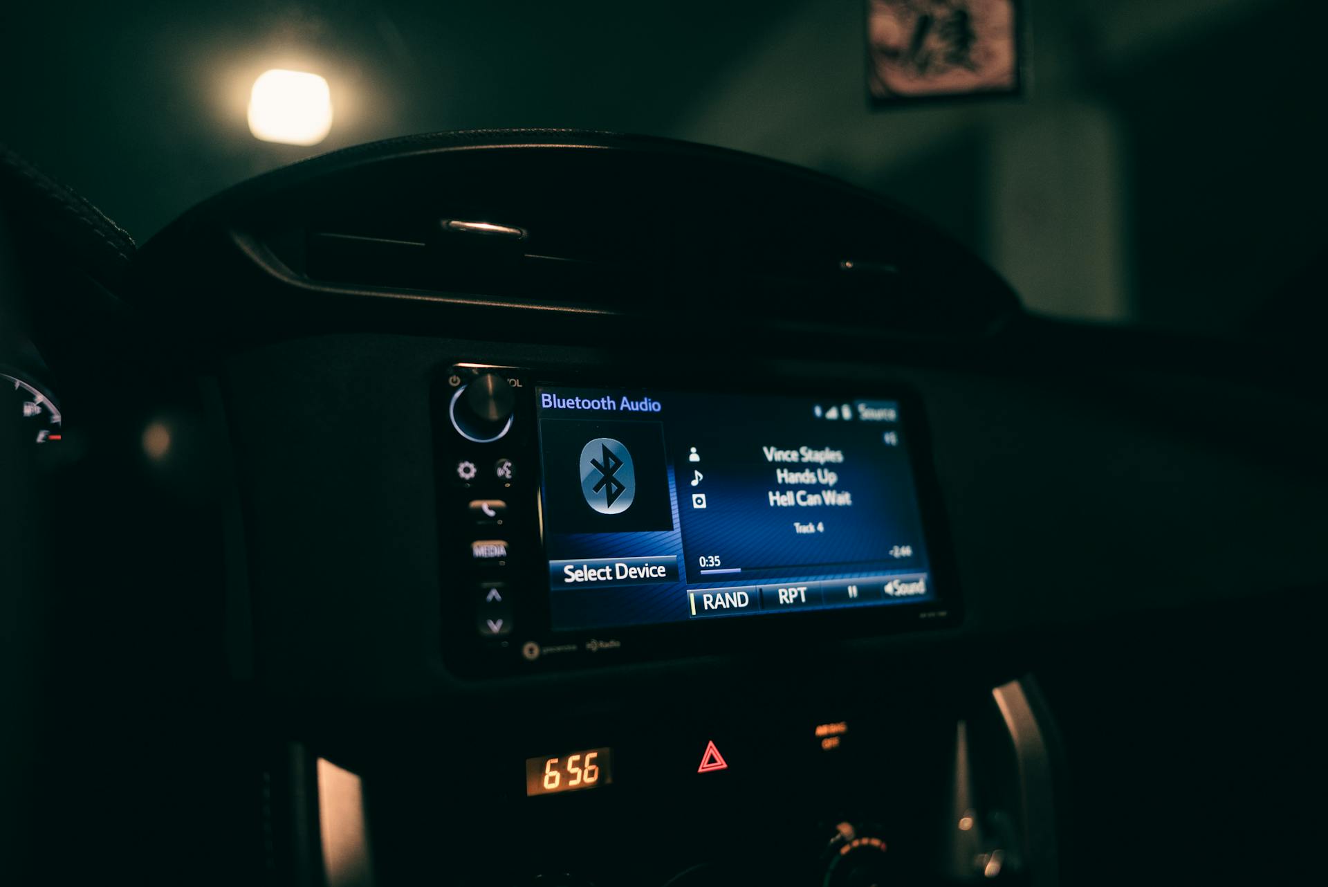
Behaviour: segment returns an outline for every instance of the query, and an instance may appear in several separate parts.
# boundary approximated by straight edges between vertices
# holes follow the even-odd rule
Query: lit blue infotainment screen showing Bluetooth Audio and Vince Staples
[[[936,600],[899,401],[535,394],[554,631]]]

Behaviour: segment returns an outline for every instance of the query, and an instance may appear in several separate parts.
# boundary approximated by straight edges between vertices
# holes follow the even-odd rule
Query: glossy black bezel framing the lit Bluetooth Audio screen
[[[482,364],[495,366],[495,364]],[[479,366],[479,364],[473,365]],[[529,366],[529,365],[527,365]],[[510,365],[509,365],[510,368]],[[450,372],[450,370],[449,370]],[[595,668],[625,661],[649,661],[760,652],[778,655],[781,649],[829,645],[843,639],[902,635],[952,627],[963,619],[961,594],[954,564],[946,510],[932,462],[932,441],[926,406],[907,385],[870,378],[846,378],[822,372],[797,376],[760,372],[725,374],[692,372],[668,374],[624,372],[622,365],[580,365],[563,369],[511,369],[521,377],[514,434],[505,441],[505,453],[519,454],[526,473],[522,490],[513,490],[517,514],[531,514],[529,538],[538,539],[537,551],[513,564],[509,574],[519,588],[519,628],[501,644],[477,644],[470,625],[473,615],[456,609],[456,621],[445,632],[446,660],[453,671],[471,675],[530,672],[566,668]],[[928,572],[935,594],[922,602],[898,602],[872,607],[807,609],[802,612],[752,615],[726,619],[696,619],[622,628],[563,629],[551,625],[548,551],[543,538],[543,478],[538,477],[539,451],[535,392],[540,388],[584,388],[628,392],[697,392],[789,397],[838,397],[892,400],[899,404],[899,428],[907,441],[908,465],[918,497],[918,513],[928,555]],[[442,389],[446,392],[446,389]],[[446,454],[444,454],[446,457]],[[444,522],[441,530],[448,532]],[[458,602],[459,603],[459,602]],[[469,649],[470,653],[461,651]]]

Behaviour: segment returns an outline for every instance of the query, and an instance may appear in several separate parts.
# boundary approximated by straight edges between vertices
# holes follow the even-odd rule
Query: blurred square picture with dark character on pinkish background
[[[1019,0],[867,0],[871,101],[1019,93],[1021,44]]]

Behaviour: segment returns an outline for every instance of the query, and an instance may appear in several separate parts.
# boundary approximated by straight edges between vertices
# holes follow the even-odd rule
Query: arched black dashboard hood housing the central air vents
[[[924,223],[740,155],[632,145],[352,159],[307,169],[234,228],[305,293],[926,335],[981,332],[1017,309]]]

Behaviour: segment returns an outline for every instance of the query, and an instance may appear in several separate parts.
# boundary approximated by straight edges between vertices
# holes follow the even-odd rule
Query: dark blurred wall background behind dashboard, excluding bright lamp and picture
[[[0,141],[145,240],[357,142],[578,126],[710,142],[892,197],[1062,317],[1238,336],[1328,240],[1328,4],[1025,3],[1021,98],[871,110],[862,0],[72,0],[0,8]],[[268,68],[325,76],[309,149],[248,133]],[[1304,292],[1301,292],[1304,291]]]

